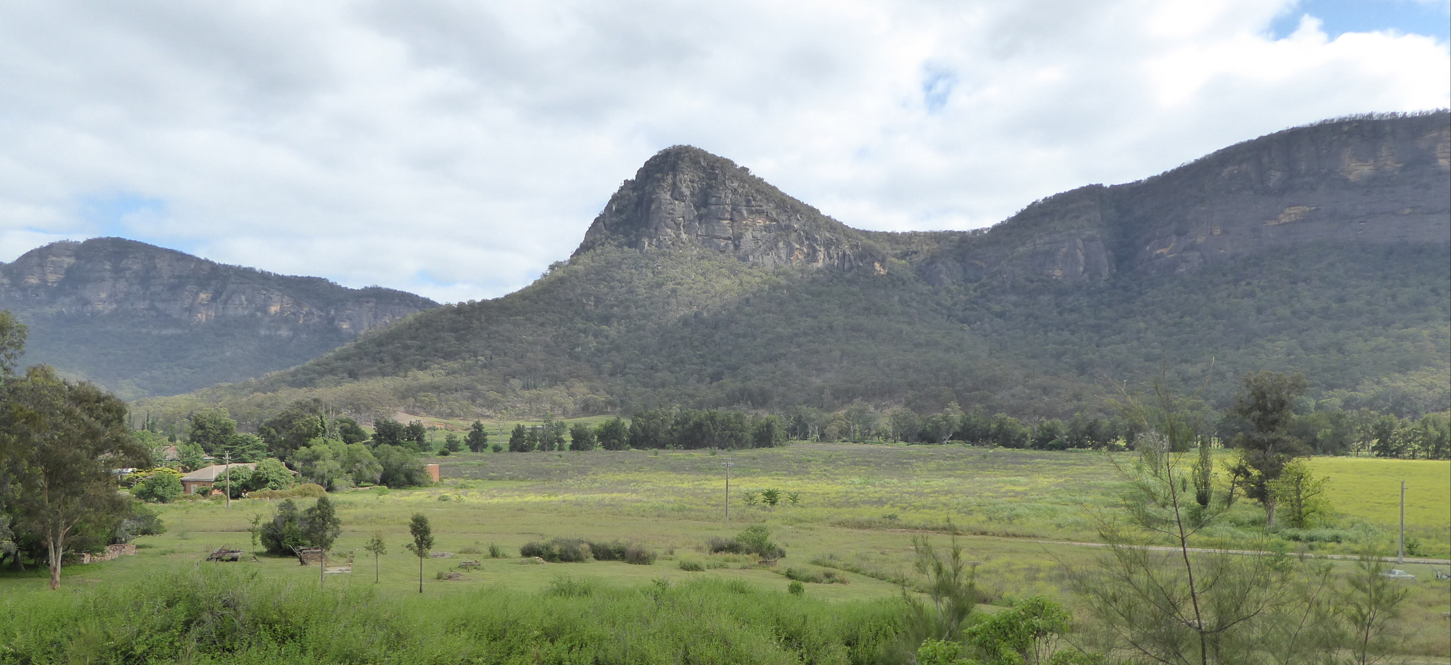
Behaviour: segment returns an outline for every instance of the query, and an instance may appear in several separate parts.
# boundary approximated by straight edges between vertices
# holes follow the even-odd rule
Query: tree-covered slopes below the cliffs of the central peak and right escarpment
[[[219,404],[255,424],[300,396],[459,418],[863,399],[1068,418],[1161,370],[1223,408],[1239,376],[1274,369],[1304,372],[1329,407],[1419,417],[1448,408],[1448,261],[1445,245],[1312,245],[1187,276],[934,289],[907,270],[602,248],[293,370],[139,407]]]

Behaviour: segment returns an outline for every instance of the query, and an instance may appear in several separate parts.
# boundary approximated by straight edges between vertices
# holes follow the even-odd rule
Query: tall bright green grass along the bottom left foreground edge
[[[437,603],[199,568],[0,597],[0,662],[866,664],[898,614],[891,601],[826,604],[712,576],[560,578],[541,594]]]

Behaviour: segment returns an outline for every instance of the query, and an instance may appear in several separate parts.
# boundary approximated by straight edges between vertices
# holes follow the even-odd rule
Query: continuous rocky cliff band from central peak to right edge
[[[985,231],[852,229],[691,147],[654,155],[595,218],[607,242],[762,266],[885,272],[933,285],[1155,274],[1313,241],[1451,241],[1451,115],[1331,121],[1242,142],[1138,183],[1051,196]]]

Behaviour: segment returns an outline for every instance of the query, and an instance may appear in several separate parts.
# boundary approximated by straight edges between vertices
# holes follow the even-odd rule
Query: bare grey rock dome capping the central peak
[[[762,266],[884,272],[885,253],[865,238],[730,160],[678,145],[620,186],[575,254],[618,242],[643,251],[704,250]]]

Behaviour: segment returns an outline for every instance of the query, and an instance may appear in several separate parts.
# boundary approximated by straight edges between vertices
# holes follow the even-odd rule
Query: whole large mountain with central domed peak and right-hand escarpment
[[[730,160],[650,158],[519,292],[443,306],[299,367],[148,408],[358,414],[1101,412],[1162,373],[1225,405],[1299,370],[1312,401],[1445,409],[1451,115],[1328,121],[968,232],[846,227]]]

